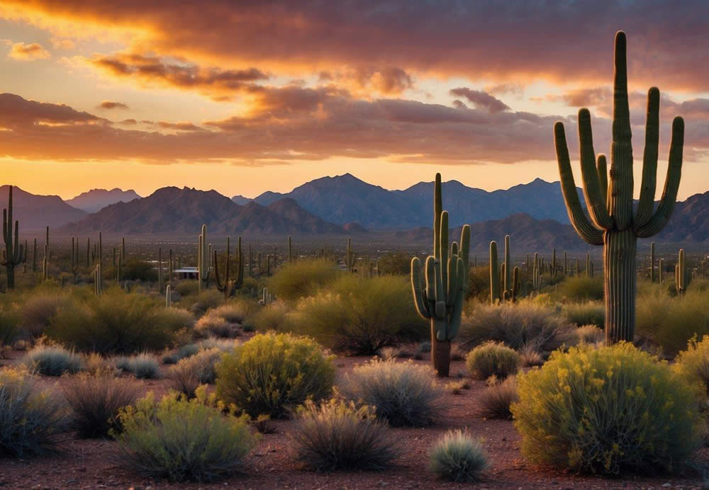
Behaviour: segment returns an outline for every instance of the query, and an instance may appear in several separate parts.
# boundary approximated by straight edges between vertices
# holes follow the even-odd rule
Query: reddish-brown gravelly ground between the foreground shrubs
[[[22,353],[12,353],[1,364],[17,363]],[[337,358],[340,374],[363,363],[368,358]],[[428,360],[415,363],[428,364]],[[462,361],[453,362],[452,375],[464,372]],[[60,387],[62,380],[43,377],[47,387]],[[141,381],[144,392],[161,394],[166,391],[164,380]],[[470,484],[452,484],[436,479],[428,470],[428,451],[445,431],[468,428],[470,433],[484,439],[489,454],[490,469],[476,488],[701,488],[703,479],[698,472],[674,477],[623,477],[606,479],[579,476],[547,467],[527,465],[520,454],[520,436],[512,421],[484,420],[476,417],[477,398],[484,382],[471,381],[471,389],[460,395],[446,392],[445,409],[441,422],[428,428],[395,428],[393,439],[401,448],[396,466],[384,472],[310,472],[299,468],[293,460],[287,433],[289,421],[276,421],[277,433],[263,435],[257,447],[245,462],[243,474],[215,484],[170,484],[153,480],[122,469],[116,464],[116,443],[112,440],[79,440],[69,435],[62,443],[59,455],[31,460],[0,459],[0,487],[32,489],[64,488],[134,488],[148,489],[164,486],[208,488],[230,486],[239,489],[438,489],[462,488]],[[695,462],[709,467],[709,450],[695,455]]]

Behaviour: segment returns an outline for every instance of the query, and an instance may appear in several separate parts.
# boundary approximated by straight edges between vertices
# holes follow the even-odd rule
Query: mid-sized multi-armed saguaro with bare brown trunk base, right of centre
[[[411,259],[413,300],[421,317],[431,321],[431,362],[437,375],[450,370],[450,341],[458,334],[468,284],[470,227],[464,225],[460,244],[448,244],[448,212],[443,210],[441,176],[433,190],[433,255],[426,258],[425,279],[418,257]]]

